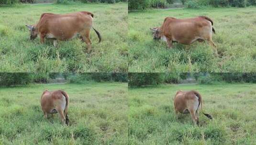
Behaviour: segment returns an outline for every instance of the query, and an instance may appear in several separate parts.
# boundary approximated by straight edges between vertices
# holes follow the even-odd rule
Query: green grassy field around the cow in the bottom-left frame
[[[45,119],[45,89],[70,97],[70,126],[58,114]],[[126,145],[127,83],[34,84],[0,88],[0,145]]]

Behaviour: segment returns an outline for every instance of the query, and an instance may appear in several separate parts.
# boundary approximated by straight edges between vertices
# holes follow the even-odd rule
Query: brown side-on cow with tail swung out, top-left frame
[[[91,49],[89,38],[90,29],[93,28],[93,14],[88,11],[80,11],[69,14],[43,13],[36,25],[26,25],[30,31],[30,39],[33,40],[40,35],[41,42],[45,38],[54,39],[54,46],[57,40],[67,41],[80,35],[82,41],[88,45],[88,52]],[[93,28],[101,41],[100,32]]]

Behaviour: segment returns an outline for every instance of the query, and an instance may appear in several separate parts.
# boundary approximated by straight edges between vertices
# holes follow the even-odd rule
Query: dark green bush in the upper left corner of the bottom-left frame
[[[32,73],[0,73],[0,86],[24,85],[32,80]]]

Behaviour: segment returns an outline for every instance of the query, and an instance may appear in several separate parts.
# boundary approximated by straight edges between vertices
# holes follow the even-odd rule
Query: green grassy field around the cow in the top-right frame
[[[129,12],[129,72],[256,72],[256,8],[164,9]],[[153,41],[149,28],[166,17],[179,19],[205,15],[213,20],[213,41],[186,45]]]

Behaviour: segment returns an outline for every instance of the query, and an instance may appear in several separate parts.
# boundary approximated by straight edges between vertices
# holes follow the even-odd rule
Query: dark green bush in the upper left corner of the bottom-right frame
[[[129,87],[140,87],[143,85],[157,85],[164,83],[164,73],[129,73]]]

